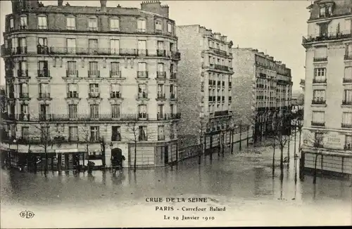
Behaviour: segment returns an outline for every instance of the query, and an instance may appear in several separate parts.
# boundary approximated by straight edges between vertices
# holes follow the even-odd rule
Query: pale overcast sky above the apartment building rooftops
[[[100,6],[100,1],[63,1],[71,6]],[[57,1],[42,1],[44,6]],[[140,8],[142,1],[107,1],[106,6]],[[170,18],[176,25],[202,25],[220,32],[234,43],[234,47],[256,48],[282,61],[291,68],[293,90],[300,90],[304,79],[306,53],[301,46],[307,34],[310,5],[299,1],[161,1],[170,7]],[[0,43],[4,44],[5,15],[10,14],[11,1],[0,1]],[[4,60],[0,61],[0,84],[5,84]]]

